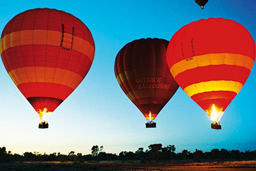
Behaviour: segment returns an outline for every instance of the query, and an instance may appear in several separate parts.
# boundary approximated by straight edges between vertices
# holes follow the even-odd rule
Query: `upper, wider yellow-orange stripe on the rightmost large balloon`
[[[250,71],[253,67],[253,59],[248,56],[243,56],[240,54],[205,54],[202,56],[194,56],[189,59],[183,59],[176,64],[173,64],[170,69],[173,77],[175,78],[179,73],[186,70],[190,70],[199,66],[209,66],[209,65],[237,65],[244,66]]]

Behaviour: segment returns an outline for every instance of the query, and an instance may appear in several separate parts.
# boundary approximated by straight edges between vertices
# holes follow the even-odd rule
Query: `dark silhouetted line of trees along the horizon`
[[[0,162],[23,162],[23,161],[128,161],[137,160],[141,162],[147,161],[170,161],[170,160],[191,160],[191,161],[236,161],[236,160],[256,160],[256,151],[245,151],[227,149],[212,149],[210,152],[203,152],[196,149],[190,152],[184,149],[182,152],[175,153],[175,145],[162,144],[148,145],[148,149],[144,151],[143,147],[137,151],[122,151],[119,154],[106,153],[103,146],[93,145],[92,154],[83,155],[81,152],[75,154],[70,151],[67,154],[53,152],[52,154],[40,154],[39,152],[24,152],[24,154],[12,154],[6,151],[6,147],[0,147]]]

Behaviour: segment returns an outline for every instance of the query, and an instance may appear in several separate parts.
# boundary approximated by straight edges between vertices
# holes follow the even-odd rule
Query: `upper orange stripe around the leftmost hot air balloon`
[[[66,33],[67,34],[67,33]],[[71,35],[71,34],[70,34]],[[60,47],[62,33],[51,30],[24,30],[6,34],[1,38],[0,53],[10,47],[19,45],[53,45]],[[72,49],[90,57],[93,61],[94,47],[83,38],[74,36]]]

